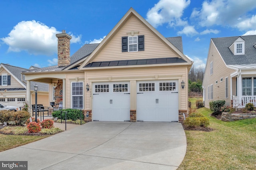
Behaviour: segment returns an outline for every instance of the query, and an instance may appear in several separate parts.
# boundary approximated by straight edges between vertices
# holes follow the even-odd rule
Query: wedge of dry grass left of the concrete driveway
[[[0,134],[0,152],[11,148],[16,148],[24,144],[35,142],[42,138],[46,138],[50,135],[44,136],[28,136],[28,135],[7,135]]]

